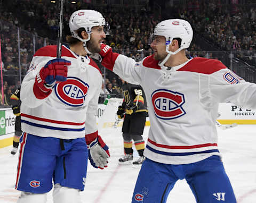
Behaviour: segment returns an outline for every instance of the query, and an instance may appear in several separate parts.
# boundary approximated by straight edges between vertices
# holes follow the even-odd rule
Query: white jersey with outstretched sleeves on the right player
[[[150,130],[144,155],[155,162],[189,164],[220,156],[215,126],[219,103],[256,108],[256,84],[217,60],[196,57],[167,70],[153,56],[136,63],[110,53],[102,64],[145,91]]]

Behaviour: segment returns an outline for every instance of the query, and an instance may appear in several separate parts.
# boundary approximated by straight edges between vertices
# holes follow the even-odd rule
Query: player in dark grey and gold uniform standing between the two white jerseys
[[[145,94],[140,85],[126,81],[121,88],[124,102],[118,107],[117,115],[120,119],[124,117],[122,132],[125,155],[119,158],[119,164],[127,164],[133,160],[132,140],[139,154],[139,158],[133,164],[142,164],[145,160],[143,156],[145,143],[142,134],[148,112]]]

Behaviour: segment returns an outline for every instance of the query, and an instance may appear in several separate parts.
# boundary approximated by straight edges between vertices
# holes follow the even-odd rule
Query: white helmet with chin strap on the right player
[[[189,47],[193,38],[193,29],[186,20],[169,19],[159,22],[156,25],[154,36],[156,35],[164,36],[166,40],[166,52],[168,55],[161,63],[159,63],[160,66],[163,66],[171,55],[177,54],[180,50]],[[175,52],[171,52],[169,51],[169,46],[174,38],[180,38],[181,44],[179,49]]]

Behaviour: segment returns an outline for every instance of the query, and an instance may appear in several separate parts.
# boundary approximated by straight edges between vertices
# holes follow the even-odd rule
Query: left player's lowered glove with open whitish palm
[[[90,143],[88,149],[89,160],[94,168],[104,169],[104,167],[107,167],[110,154],[108,146],[103,142],[100,136]]]

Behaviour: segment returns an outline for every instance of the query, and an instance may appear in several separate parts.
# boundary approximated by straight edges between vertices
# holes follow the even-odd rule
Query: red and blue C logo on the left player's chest
[[[69,106],[82,106],[88,89],[87,83],[75,77],[68,77],[65,82],[55,86],[55,94],[61,102]]]

